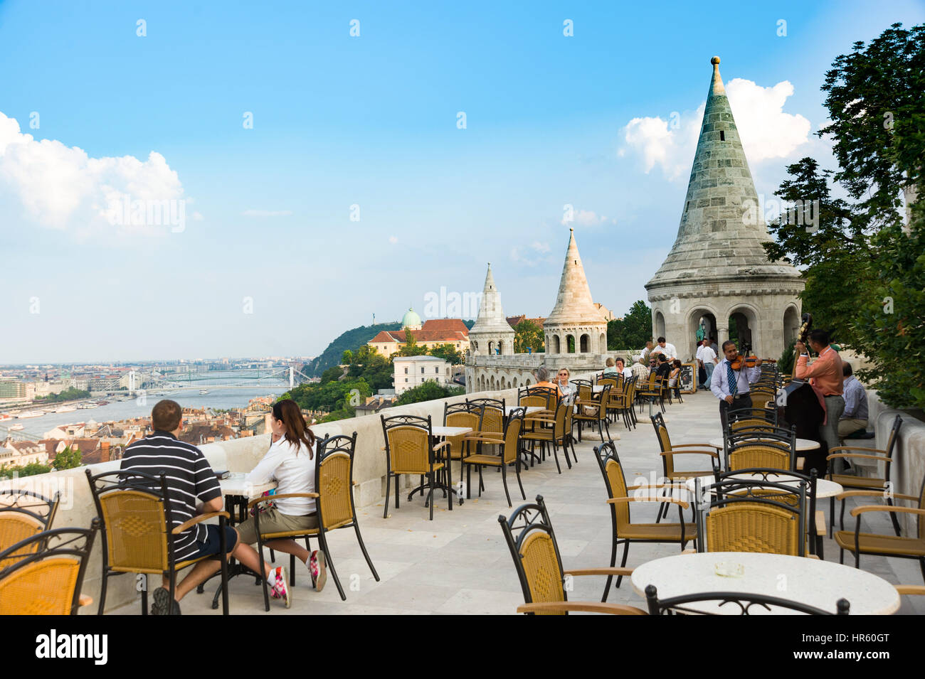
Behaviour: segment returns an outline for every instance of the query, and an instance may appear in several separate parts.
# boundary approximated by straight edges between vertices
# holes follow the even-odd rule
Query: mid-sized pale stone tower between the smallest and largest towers
[[[606,354],[607,322],[591,300],[574,230],[570,232],[556,306],[543,323],[546,354]]]

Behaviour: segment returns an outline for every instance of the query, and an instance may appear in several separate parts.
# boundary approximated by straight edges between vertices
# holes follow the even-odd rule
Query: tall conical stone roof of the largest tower
[[[678,236],[659,271],[646,284],[648,290],[685,283],[741,281],[749,276],[799,278],[794,267],[768,261],[761,248],[771,236],[722,85],[720,57],[714,56],[710,63],[713,77]]]

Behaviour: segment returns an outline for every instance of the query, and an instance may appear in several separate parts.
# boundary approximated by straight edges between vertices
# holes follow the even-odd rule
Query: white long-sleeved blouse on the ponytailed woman
[[[270,445],[264,458],[247,475],[255,486],[270,479],[277,480],[277,494],[290,492],[314,492],[314,469],[317,453],[308,457],[308,446],[292,445],[283,436]],[[287,498],[277,500],[277,509],[285,515],[304,516],[314,512],[314,498]]]

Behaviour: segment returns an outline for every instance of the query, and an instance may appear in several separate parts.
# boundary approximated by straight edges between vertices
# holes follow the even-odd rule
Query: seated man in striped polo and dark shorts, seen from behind
[[[172,526],[178,527],[193,516],[222,511],[222,491],[216,474],[205,459],[202,451],[191,443],[184,443],[177,438],[183,431],[183,411],[175,401],[158,401],[151,411],[154,433],[132,443],[122,455],[119,468],[158,475],[166,472],[167,495],[170,502]],[[174,559],[177,562],[195,559],[200,556],[217,555],[221,549],[221,533],[214,524],[201,523],[185,530],[174,537]],[[225,547],[228,553],[246,565],[255,573],[260,572],[260,562],[253,550],[240,549],[238,531],[225,527]],[[252,558],[253,555],[253,558]],[[226,554],[226,558],[227,558]],[[179,600],[200,583],[221,568],[217,559],[205,559],[192,566],[174,590],[174,600],[170,600],[170,581],[164,577],[163,587],[154,590],[152,615],[179,615]],[[277,570],[267,577],[267,584],[273,588],[276,584]],[[285,583],[285,576],[283,576]],[[285,589],[285,585],[283,586]],[[289,601],[288,590],[285,600]],[[287,608],[289,606],[287,605]]]

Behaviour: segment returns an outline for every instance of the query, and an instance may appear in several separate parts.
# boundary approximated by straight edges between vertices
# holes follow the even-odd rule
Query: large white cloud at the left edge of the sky
[[[163,155],[91,158],[56,139],[36,140],[0,113],[0,208],[10,201],[41,226],[80,235],[112,230],[113,205],[182,200],[183,187]],[[6,206],[9,210],[11,206]],[[118,227],[120,229],[124,227]]]

